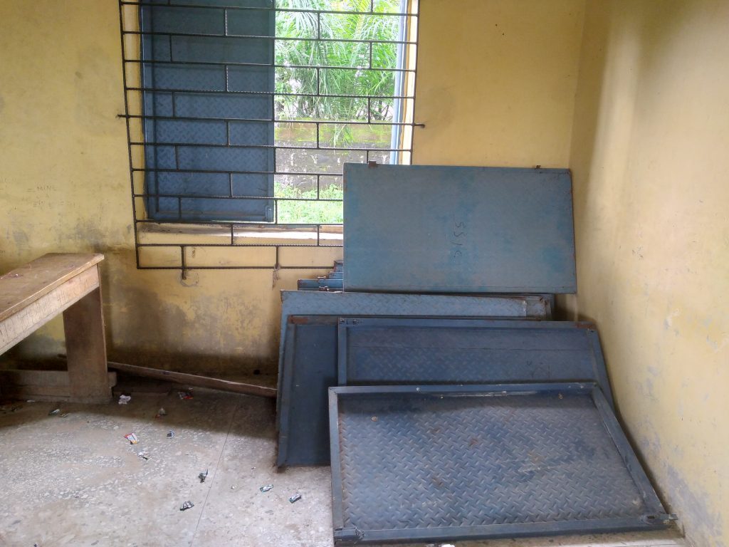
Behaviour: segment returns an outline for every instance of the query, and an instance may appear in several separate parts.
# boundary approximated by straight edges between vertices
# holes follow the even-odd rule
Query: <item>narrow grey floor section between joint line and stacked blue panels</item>
[[[276,472],[273,401],[241,397],[235,416],[193,546],[331,546],[329,468]]]

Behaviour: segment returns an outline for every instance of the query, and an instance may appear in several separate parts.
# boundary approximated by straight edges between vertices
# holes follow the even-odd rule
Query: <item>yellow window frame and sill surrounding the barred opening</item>
[[[174,0],[173,0],[174,1]],[[263,0],[268,3],[267,0]],[[227,22],[227,10],[229,9],[256,9],[254,7],[235,7],[230,5],[232,2],[220,1],[215,3],[217,5],[214,8],[223,9]],[[268,187],[268,195],[265,198],[258,196],[259,199],[264,199],[269,203],[273,204],[273,218],[268,217],[265,220],[260,218],[250,219],[235,219],[235,218],[215,218],[215,217],[196,217],[185,219],[182,215],[182,206],[178,207],[179,214],[173,215],[167,218],[155,218],[154,215],[149,215],[149,200],[155,198],[154,195],[150,195],[147,190],[147,178],[142,177],[140,174],[147,174],[146,150],[147,142],[144,137],[139,139],[139,135],[144,135],[144,121],[148,117],[144,112],[144,93],[145,86],[142,77],[141,67],[143,66],[142,56],[142,42],[145,36],[145,31],[141,22],[139,21],[139,12],[143,7],[168,7],[170,4],[159,4],[154,0],[120,0],[120,29],[122,39],[122,66],[123,77],[124,77],[124,88],[125,88],[125,115],[127,122],[127,133],[128,133],[128,145],[129,145],[129,164],[130,164],[130,178],[131,178],[131,190],[133,200],[133,217],[134,217],[134,232],[135,242],[137,249],[137,267],[140,269],[182,269],[182,271],[189,269],[238,269],[238,268],[324,268],[328,265],[318,265],[311,263],[311,260],[282,260],[283,254],[292,254],[289,251],[297,249],[284,249],[286,247],[329,247],[330,249],[324,249],[331,251],[332,247],[341,247],[340,237],[332,238],[332,234],[340,234],[342,231],[342,225],[340,222],[313,222],[303,223],[299,222],[296,224],[287,224],[279,222],[279,202],[280,201],[341,201],[340,199],[327,199],[321,198],[319,195],[319,189],[321,187],[321,177],[323,176],[341,176],[340,171],[335,174],[327,173],[302,173],[303,175],[316,176],[316,198],[280,198],[273,193],[273,178],[274,176],[281,174],[296,175],[296,173],[279,172],[276,169],[274,160],[273,173],[269,173],[270,184]],[[174,5],[174,4],[171,4]],[[418,32],[418,2],[417,0],[402,0],[402,4],[405,9],[401,9],[399,13],[389,13],[387,15],[380,15],[383,17],[397,16],[402,17],[403,24],[399,27],[399,36],[397,41],[400,45],[398,47],[398,58],[397,64],[394,67],[395,74],[399,75],[396,78],[396,88],[394,90],[393,98],[396,112],[394,115],[400,116],[399,119],[394,117],[391,122],[383,122],[383,125],[390,125],[394,128],[391,131],[391,139],[389,148],[393,150],[386,150],[389,152],[389,160],[397,161],[397,163],[410,163],[412,158],[412,144],[413,144],[413,129],[422,124],[414,122],[414,109],[415,109],[415,82],[416,82],[416,71],[417,71],[417,32]],[[182,7],[198,7],[198,4],[181,4]],[[270,7],[271,12],[275,15],[279,11],[291,11],[288,9],[281,9],[276,6]],[[134,22],[136,11],[136,25]],[[311,10],[312,12],[318,12],[317,17],[321,17],[321,13],[353,13],[348,11],[336,11],[336,10]],[[374,11],[374,0],[370,1],[370,11],[367,12],[354,12],[359,15],[377,15]],[[272,18],[272,19],[273,19]],[[275,25],[275,23],[274,23]],[[227,27],[226,27],[227,28]],[[275,32],[273,33],[275,34]],[[273,36],[271,42],[275,48],[276,40],[281,39],[280,37]],[[365,40],[364,42],[370,42],[370,60],[372,58],[372,44],[373,40]],[[137,53],[136,58],[134,53]],[[131,53],[131,55],[130,55]],[[273,67],[273,71],[278,66],[276,59],[270,66]],[[371,62],[371,61],[370,61]],[[134,74],[134,67],[137,68],[137,74]],[[319,78],[319,71],[325,69],[336,69],[337,67],[332,66],[319,66],[316,67],[317,72],[317,85]],[[370,67],[368,69],[372,69]],[[377,69],[377,67],[375,67]],[[226,67],[227,76],[227,67]],[[275,76],[274,76],[275,78]],[[398,90],[399,88],[399,90]],[[319,89],[317,89],[317,92]],[[399,93],[399,95],[396,95]],[[136,96],[135,96],[136,94]],[[273,88],[271,97],[272,103],[276,99],[276,88]],[[137,111],[135,112],[135,106]],[[141,110],[140,110],[141,106]],[[370,99],[367,99],[367,106],[370,106]],[[271,128],[274,123],[278,123],[275,110],[272,112],[272,118],[265,120],[270,122]],[[371,112],[367,113],[367,120],[354,121],[355,125],[367,125],[372,120],[370,119]],[[352,123],[351,120],[347,120]],[[301,123],[301,122],[295,122]],[[330,150],[328,147],[320,146],[320,128],[322,125],[339,123],[341,121],[335,120],[319,120],[308,122],[316,125],[316,148],[304,147],[308,150]],[[380,122],[378,122],[380,123]],[[288,147],[278,147],[277,142],[273,139],[273,153],[276,154],[277,150]],[[345,150],[359,150],[362,153],[365,161],[370,161],[370,149],[367,148],[352,148]],[[377,152],[382,150],[375,149]],[[408,156],[407,162],[403,161],[404,156]],[[379,158],[378,158],[379,159]],[[140,163],[142,164],[140,166]],[[387,160],[386,160],[387,163]],[[232,174],[231,174],[232,176]],[[249,200],[254,196],[238,196],[233,195],[227,196],[228,199],[244,199]],[[179,198],[181,203],[182,198]],[[205,234],[204,236],[202,234]],[[251,260],[243,260],[242,262],[236,262],[235,260],[225,260],[217,258],[211,263],[192,263],[190,255],[194,256],[196,247],[273,247],[275,254],[265,253],[270,260],[265,261],[265,264],[258,264],[257,261],[251,262]],[[255,249],[249,249],[254,251]],[[273,249],[267,249],[273,250]],[[155,253],[153,251],[157,251]],[[340,251],[339,251],[340,252]],[[158,254],[158,257],[154,255]],[[315,253],[316,254],[316,253]],[[326,253],[325,253],[326,254]],[[165,256],[166,255],[166,256]],[[288,257],[290,258],[290,257]],[[326,262],[322,262],[326,263]]]

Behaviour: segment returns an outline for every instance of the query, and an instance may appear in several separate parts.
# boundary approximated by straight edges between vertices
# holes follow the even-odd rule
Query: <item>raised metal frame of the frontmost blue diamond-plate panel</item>
[[[594,518],[589,516],[586,519],[575,518],[574,513],[569,513],[568,519],[560,518],[555,519],[546,515],[547,511],[551,513],[551,508],[545,508],[545,518],[537,521],[527,521],[524,519],[523,522],[514,522],[515,518],[510,516],[509,519],[504,519],[507,522],[505,524],[471,524],[471,525],[456,525],[456,526],[428,526],[428,523],[422,523],[420,527],[390,527],[382,529],[358,529],[356,526],[347,527],[346,523],[351,517],[351,513],[356,513],[357,507],[352,510],[353,504],[363,504],[361,498],[353,498],[346,492],[346,488],[352,488],[352,484],[357,481],[357,478],[353,476],[343,476],[346,470],[343,470],[342,466],[342,445],[340,439],[340,401],[346,400],[347,398],[352,399],[353,397],[382,397],[383,398],[383,411],[386,409],[391,410],[393,406],[400,404],[407,397],[429,397],[431,400],[443,400],[443,398],[452,397],[472,397],[475,401],[482,401],[486,406],[486,400],[489,398],[491,401],[494,397],[514,397],[520,395],[542,395],[546,392],[557,392],[559,398],[570,397],[572,395],[577,396],[589,396],[595,406],[595,412],[590,411],[590,416],[593,416],[594,421],[597,422],[597,427],[602,424],[607,430],[607,435],[604,434],[604,430],[593,432],[600,437],[607,437],[612,441],[612,446],[605,447],[606,451],[615,449],[612,454],[612,465],[620,470],[621,476],[624,481],[632,481],[634,484],[634,491],[640,497],[638,503],[631,503],[620,505],[621,508],[625,507],[624,511],[621,511],[620,516],[609,516],[605,518]],[[330,400],[330,436],[331,442],[331,454],[332,454],[332,520],[334,527],[334,538],[335,544],[349,544],[349,543],[399,543],[407,541],[422,541],[422,542],[440,542],[445,540],[474,540],[474,539],[486,539],[486,538],[519,538],[534,535],[558,535],[558,534],[569,534],[569,533],[596,533],[596,532],[620,532],[628,530],[640,530],[640,529],[657,529],[663,527],[667,521],[675,519],[674,515],[667,515],[663,505],[660,503],[655,490],[650,484],[644,470],[642,469],[639,460],[637,459],[633,449],[628,443],[628,439],[625,438],[623,430],[620,428],[620,424],[615,418],[612,409],[610,408],[607,400],[600,391],[596,384],[501,384],[501,385],[467,385],[467,386],[381,386],[381,387],[332,387],[329,390]],[[462,400],[462,399],[461,399]],[[389,406],[388,406],[389,405]],[[383,419],[386,419],[383,417]],[[451,416],[453,419],[453,416]],[[369,422],[369,420],[367,420]],[[373,419],[373,422],[376,422]],[[417,423],[413,420],[413,435],[417,435],[418,427],[421,430],[424,424]],[[451,422],[453,423],[453,422]],[[354,427],[351,423],[349,427]],[[504,427],[509,427],[508,424],[504,424]],[[512,427],[514,427],[512,425]],[[509,431],[507,430],[508,434]],[[515,431],[516,435],[520,432]],[[346,433],[345,433],[346,434]],[[440,432],[434,432],[434,435],[440,435]],[[447,435],[448,432],[443,433]],[[408,439],[403,438],[402,442],[407,442]],[[523,442],[523,440],[521,441]],[[531,442],[531,439],[530,441]],[[539,442],[535,439],[535,443]],[[383,447],[380,446],[362,446],[362,443],[354,445],[357,450],[376,452],[380,455],[378,461],[388,462],[387,454],[383,451]],[[418,458],[419,452],[417,450],[407,451],[405,457]],[[481,457],[488,457],[486,451],[479,451],[478,454],[483,454]],[[457,456],[457,454],[455,454]],[[425,454],[420,456],[425,457]],[[450,456],[449,456],[450,457]],[[616,461],[617,460],[617,461]],[[620,461],[622,460],[622,461]],[[617,462],[622,463],[625,467],[619,468]],[[432,462],[428,462],[432,463]],[[501,463],[501,462],[499,462]],[[569,462],[568,462],[569,464]],[[376,464],[379,465],[379,464]],[[387,464],[389,465],[389,464]],[[505,465],[510,465],[510,462],[506,462]],[[539,470],[539,468],[537,468]],[[351,471],[351,470],[350,470]],[[362,471],[362,470],[359,470]],[[367,470],[365,470],[367,471]],[[456,473],[462,473],[464,470],[456,468]],[[522,470],[520,470],[522,471]],[[373,473],[377,473],[377,470],[373,470]],[[397,469],[397,473],[401,473],[402,468]],[[552,468],[547,466],[540,472],[544,473],[556,473],[558,475],[559,470],[553,471]],[[390,473],[390,472],[389,472]],[[627,477],[625,476],[627,473]],[[378,480],[386,480],[386,478],[379,477]],[[413,472],[413,476],[407,476],[404,478],[405,481],[412,481],[416,484],[418,481],[425,481],[426,478],[418,476],[417,473]],[[376,484],[376,481],[367,482],[367,484]],[[541,484],[541,483],[537,483]],[[349,486],[348,486],[349,485]],[[389,485],[388,485],[389,486]],[[397,485],[402,486],[402,485]],[[414,488],[415,486],[413,486]],[[446,489],[448,484],[445,484]],[[536,488],[538,486],[534,486]],[[565,485],[565,488],[569,486]],[[544,494],[544,490],[541,491]],[[374,492],[373,495],[377,497],[379,490]],[[523,492],[519,495],[523,496],[524,499],[529,499],[532,492],[529,491],[529,481],[524,484]],[[406,494],[409,495],[409,494]],[[456,492],[454,495],[460,497],[466,497],[467,492]],[[563,498],[564,499],[564,498]],[[573,500],[569,500],[572,503]],[[625,500],[617,500],[618,504],[623,504]],[[424,503],[424,500],[413,500],[413,504]],[[394,500],[392,503],[397,505],[399,500]],[[499,504],[489,503],[488,492],[483,492],[483,500],[472,500],[477,504],[478,511],[482,511],[481,515],[485,515],[486,511],[496,511],[496,513],[488,513],[488,517],[491,520],[499,520],[496,517],[500,517],[499,511],[504,511],[503,507]],[[483,505],[481,505],[483,503]],[[585,503],[582,500],[574,500],[574,503],[580,505]],[[366,505],[366,502],[364,502]],[[517,504],[518,508],[519,505]],[[362,509],[362,507],[359,507]],[[448,511],[448,507],[443,508],[440,513],[446,515],[453,515],[454,521],[461,518],[461,513],[457,509],[453,508],[453,513]],[[350,511],[352,510],[352,511]],[[631,510],[636,511],[635,514],[631,513]],[[350,511],[347,513],[347,511]],[[366,508],[365,508],[366,511]],[[397,511],[397,508],[395,509]],[[588,514],[589,511],[585,511],[582,514]],[[361,514],[361,513],[360,513]],[[399,514],[399,513],[398,513]],[[397,515],[395,516],[397,517]],[[409,525],[418,524],[413,523],[405,519],[405,516],[397,517],[398,521],[407,521]],[[488,520],[488,519],[482,519]],[[351,524],[351,523],[350,523]]]

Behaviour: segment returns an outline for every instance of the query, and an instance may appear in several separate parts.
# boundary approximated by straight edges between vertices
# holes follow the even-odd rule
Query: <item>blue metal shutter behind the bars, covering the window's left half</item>
[[[143,113],[147,116],[144,167],[150,170],[145,172],[147,214],[155,220],[270,222],[273,201],[205,196],[273,197],[274,124],[265,121],[273,119],[273,103],[265,94],[235,93],[273,92],[274,70],[265,66],[273,63],[273,40],[209,35],[228,34],[228,27],[243,17],[247,34],[274,36],[274,12],[226,11],[215,2],[200,4],[208,5],[139,8],[141,31],[160,33],[141,36]],[[253,8],[273,4],[270,0],[229,0],[224,5]],[[225,66],[225,61],[261,66]],[[262,121],[196,119],[207,117]]]

